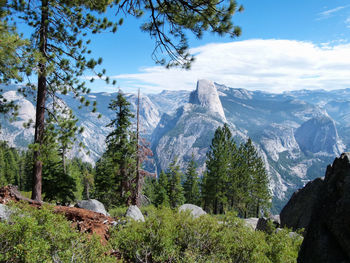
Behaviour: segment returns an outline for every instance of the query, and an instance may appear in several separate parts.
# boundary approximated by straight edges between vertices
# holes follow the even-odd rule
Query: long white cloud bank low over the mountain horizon
[[[193,90],[198,79],[234,88],[282,92],[350,88],[350,44],[322,45],[293,40],[246,40],[193,48],[189,71],[154,66],[122,74],[122,88],[143,92]]]

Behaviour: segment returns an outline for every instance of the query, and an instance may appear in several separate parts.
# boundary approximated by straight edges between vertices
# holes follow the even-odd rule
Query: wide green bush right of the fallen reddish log
[[[279,241],[278,241],[279,240]],[[253,231],[234,215],[194,219],[169,208],[150,211],[146,222],[119,225],[110,244],[132,262],[296,262],[299,236]],[[285,261],[283,261],[285,260]]]

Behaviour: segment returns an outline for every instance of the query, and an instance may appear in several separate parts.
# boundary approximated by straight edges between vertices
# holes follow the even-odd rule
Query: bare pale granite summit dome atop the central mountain
[[[214,82],[205,79],[198,80],[197,88],[191,92],[189,102],[201,105],[210,112],[218,114],[226,121],[224,109]]]

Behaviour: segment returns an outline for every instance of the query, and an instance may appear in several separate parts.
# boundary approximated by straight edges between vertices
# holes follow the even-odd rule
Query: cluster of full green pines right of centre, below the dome
[[[202,180],[204,208],[214,214],[236,210],[259,217],[270,206],[264,162],[251,139],[236,146],[227,124],[215,131]]]

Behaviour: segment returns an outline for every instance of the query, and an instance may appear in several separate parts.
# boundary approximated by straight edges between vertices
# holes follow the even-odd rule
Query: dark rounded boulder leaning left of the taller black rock
[[[292,195],[280,213],[281,227],[292,228],[294,231],[306,229],[323,184],[323,179],[317,178]]]

